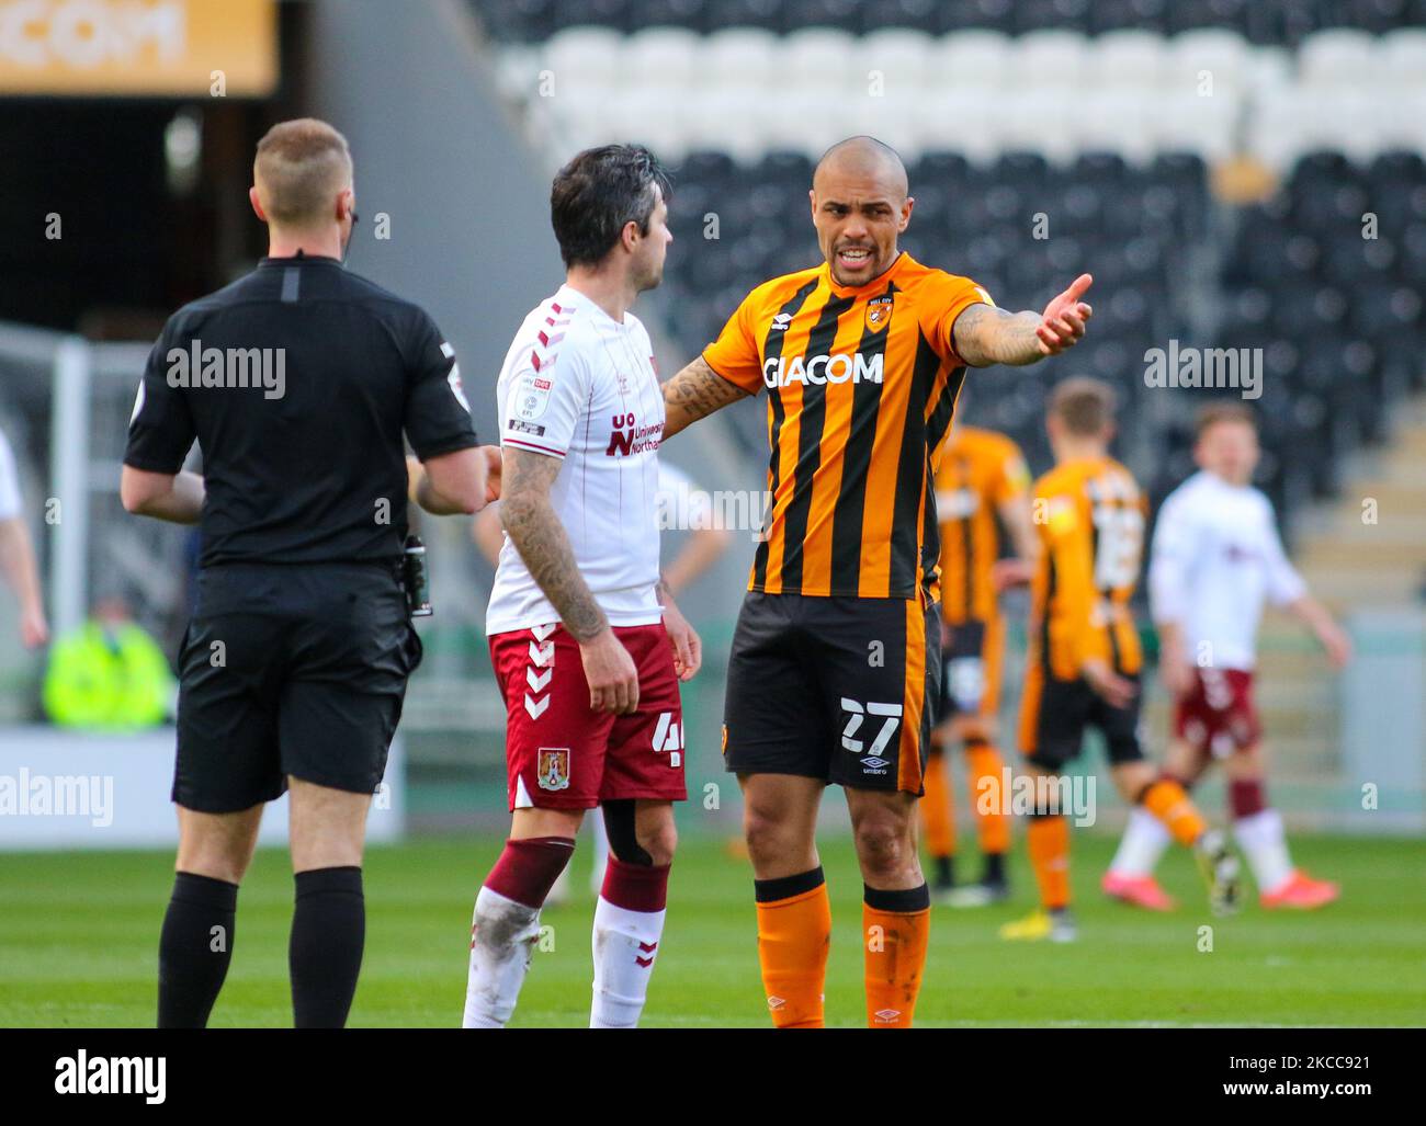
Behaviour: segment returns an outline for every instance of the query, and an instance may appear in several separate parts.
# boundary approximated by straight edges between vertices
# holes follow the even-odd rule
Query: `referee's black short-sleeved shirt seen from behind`
[[[201,567],[399,557],[402,430],[421,460],[476,445],[431,316],[335,258],[264,258],[178,309],[148,356],[124,463],[177,473],[197,438]]]

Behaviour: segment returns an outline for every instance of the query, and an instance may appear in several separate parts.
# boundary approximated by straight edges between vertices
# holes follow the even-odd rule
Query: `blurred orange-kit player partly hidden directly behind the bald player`
[[[964,395],[960,408],[965,409]],[[994,430],[953,426],[935,473],[935,516],[941,525],[941,706],[925,763],[921,820],[934,864],[931,894],[953,907],[980,907],[1010,894],[1010,811],[983,798],[1000,794],[1005,765],[995,745],[1005,657],[998,594],[1030,580],[1035,550],[1030,473],[1020,448]],[[1005,536],[1015,554],[1001,560]],[[955,743],[965,747],[967,791],[985,858],[980,882],[960,888],[945,754]]]

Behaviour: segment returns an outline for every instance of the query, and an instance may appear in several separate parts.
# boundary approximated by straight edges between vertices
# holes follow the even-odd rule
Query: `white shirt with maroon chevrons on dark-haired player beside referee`
[[[496,402],[502,446],[563,460],[550,505],[609,623],[662,621],[655,586],[663,392],[639,318],[626,312],[620,324],[562,285],[515,334]],[[485,631],[549,621],[559,614],[506,536]]]

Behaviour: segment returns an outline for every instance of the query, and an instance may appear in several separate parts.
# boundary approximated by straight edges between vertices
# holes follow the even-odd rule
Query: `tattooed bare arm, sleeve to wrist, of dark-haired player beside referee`
[[[576,641],[588,641],[609,626],[575,563],[575,549],[549,503],[549,490],[563,462],[545,453],[505,449],[505,495],[501,523],[529,567],[530,577],[559,613]]]

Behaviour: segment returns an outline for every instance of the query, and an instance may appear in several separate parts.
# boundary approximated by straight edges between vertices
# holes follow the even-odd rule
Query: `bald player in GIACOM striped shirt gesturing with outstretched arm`
[[[663,389],[665,438],[767,388],[773,495],[727,673],[773,1023],[823,1023],[831,915],[817,807],[843,785],[864,881],[867,1022],[911,1023],[930,892],[915,847],[940,691],[934,469],[967,366],[1034,363],[1085,331],[1081,275],[1044,314],[897,248],[906,168],[854,137],[813,177],[824,261],[753,289]]]

